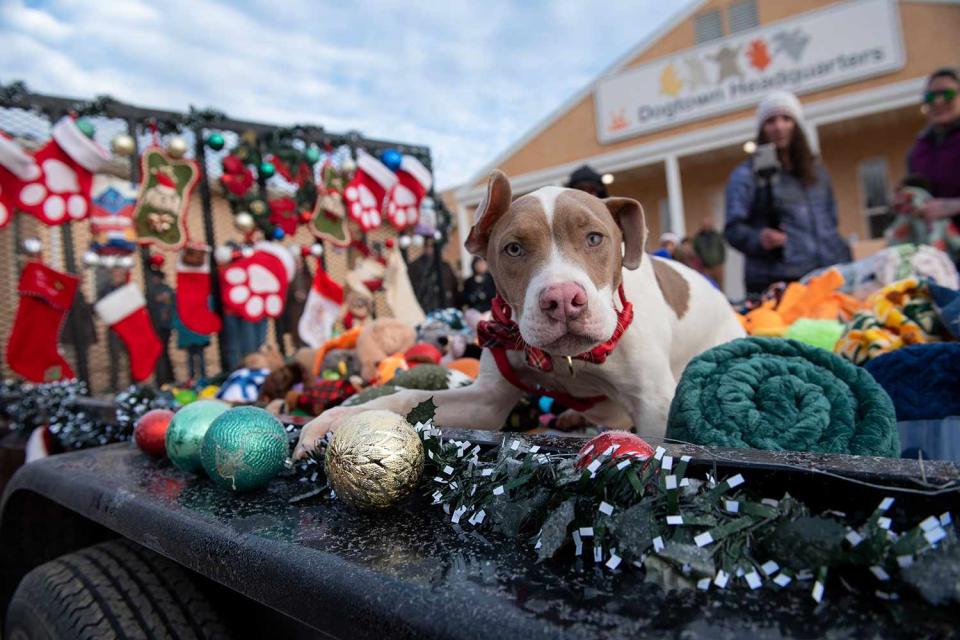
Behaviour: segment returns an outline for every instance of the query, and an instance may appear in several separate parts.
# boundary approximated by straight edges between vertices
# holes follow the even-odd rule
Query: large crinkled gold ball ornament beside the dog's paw
[[[325,470],[337,497],[357,509],[385,509],[423,475],[423,443],[403,416],[370,410],[349,416],[330,440]]]

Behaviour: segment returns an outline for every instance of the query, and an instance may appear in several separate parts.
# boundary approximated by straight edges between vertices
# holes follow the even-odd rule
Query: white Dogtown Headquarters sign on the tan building
[[[903,67],[893,0],[811,11],[714,40],[600,82],[597,138],[628,138],[749,107],[769,91],[796,94]]]

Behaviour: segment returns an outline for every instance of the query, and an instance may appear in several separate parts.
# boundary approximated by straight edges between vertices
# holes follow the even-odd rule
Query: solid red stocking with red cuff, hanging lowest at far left
[[[39,262],[24,267],[17,288],[20,306],[7,343],[7,363],[27,380],[49,382],[73,377],[73,370],[57,350],[57,338],[78,283],[76,276]]]

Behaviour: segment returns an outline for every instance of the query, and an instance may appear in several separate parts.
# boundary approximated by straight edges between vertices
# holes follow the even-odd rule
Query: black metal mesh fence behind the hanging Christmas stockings
[[[137,141],[138,149],[150,144],[156,130],[156,123],[166,123],[166,132],[161,135],[161,143],[170,136],[178,135],[187,142],[185,157],[198,161],[201,179],[194,191],[187,216],[189,236],[202,240],[211,247],[230,240],[238,240],[240,233],[235,230],[233,214],[229,202],[221,195],[219,178],[222,174],[221,161],[236,146],[241,135],[256,136],[265,139],[278,131],[280,127],[257,122],[245,122],[229,119],[217,112],[176,113],[155,109],[143,109],[119,103],[109,98],[98,98],[92,102],[83,102],[68,98],[27,93],[23,85],[0,86],[0,131],[14,138],[26,148],[39,148],[46,144],[51,128],[57,118],[65,113],[82,115],[95,127],[94,139],[105,148],[119,134],[127,133]],[[171,128],[170,123],[174,123]],[[184,124],[188,123],[188,124]],[[164,127],[161,127],[164,131]],[[288,129],[285,129],[285,131]],[[325,148],[334,148],[340,154],[354,154],[363,148],[378,154],[385,149],[396,149],[401,153],[417,157],[428,169],[432,170],[430,150],[423,146],[413,146],[384,140],[364,138],[357,132],[336,134],[318,126],[295,128],[297,134],[294,144],[318,144]],[[204,144],[204,140],[214,132],[220,132],[226,144],[221,151],[213,151]],[[109,172],[119,177],[139,180],[138,155],[130,158],[115,158]],[[266,185],[259,185],[264,189]],[[265,195],[265,194],[264,194]],[[438,227],[443,237],[438,241],[437,282],[442,289],[440,278],[440,255],[444,245],[449,242],[450,213],[443,207],[439,198],[431,192],[438,211]],[[368,244],[384,242],[395,236],[387,225],[375,229],[363,239]],[[0,229],[0,341],[6,346],[9,340],[13,320],[18,306],[17,283],[20,272],[28,260],[22,250],[23,240],[35,237],[42,244],[44,264],[57,269],[78,274],[81,285],[74,305],[67,315],[61,330],[60,350],[73,367],[77,376],[86,381],[93,393],[109,393],[123,388],[130,382],[129,363],[126,350],[116,334],[99,321],[93,314],[92,305],[104,292],[119,284],[120,278],[126,278],[125,272],[116,268],[89,267],[83,265],[83,255],[92,241],[89,225],[86,222],[68,223],[55,227],[46,227],[32,216],[17,214],[5,228]],[[305,226],[299,226],[295,236],[285,242],[299,245],[312,245],[316,242]],[[420,254],[420,249],[411,246],[404,250],[404,257],[412,261]],[[151,278],[146,277],[151,253],[155,249],[140,247],[135,264],[129,274],[130,281],[137,283],[150,299]],[[335,247],[324,243],[321,260],[327,271],[343,282],[343,277],[358,257],[353,249]],[[449,253],[449,252],[448,252]],[[165,263],[161,267],[164,280],[172,283],[176,276],[176,257],[165,254]],[[213,269],[212,273],[216,273]],[[217,299],[217,278],[212,279],[215,304]],[[375,299],[375,313],[388,313],[382,295]],[[267,331],[267,344],[274,344],[286,354],[296,346],[296,323],[287,323],[278,319],[270,320]],[[167,334],[169,335],[169,333]],[[208,377],[224,372],[227,368],[225,350],[221,349],[223,334],[211,336],[210,345],[204,351],[204,360]],[[187,377],[186,352],[177,349],[175,337],[166,345],[176,380]],[[9,369],[6,358],[0,358],[0,377],[15,375]],[[163,382],[156,380],[154,382]]]

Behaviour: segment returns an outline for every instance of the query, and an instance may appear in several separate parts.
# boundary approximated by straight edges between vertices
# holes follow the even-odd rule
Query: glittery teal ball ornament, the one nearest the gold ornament
[[[269,483],[288,454],[287,432],[279,420],[257,407],[237,407],[210,425],[200,459],[219,486],[250,491]]]

